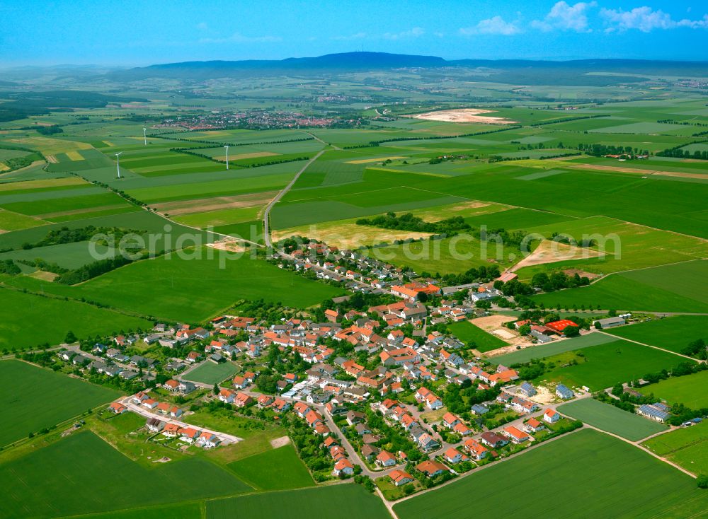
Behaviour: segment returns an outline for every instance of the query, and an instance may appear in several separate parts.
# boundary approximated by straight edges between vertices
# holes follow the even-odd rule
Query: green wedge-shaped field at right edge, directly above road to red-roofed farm
[[[547,308],[597,306],[605,310],[708,312],[708,291],[697,279],[708,276],[708,262],[687,262],[613,274],[597,283],[534,296]]]

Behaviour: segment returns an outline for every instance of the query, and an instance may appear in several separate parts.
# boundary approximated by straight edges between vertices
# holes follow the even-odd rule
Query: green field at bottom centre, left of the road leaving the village
[[[318,518],[389,519],[375,494],[360,485],[330,485],[319,489],[268,492],[207,501],[207,519]]]

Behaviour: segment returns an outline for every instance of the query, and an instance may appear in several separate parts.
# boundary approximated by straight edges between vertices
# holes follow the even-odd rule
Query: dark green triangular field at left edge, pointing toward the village
[[[0,446],[120,396],[107,387],[22,361],[0,361],[0,380],[8,388],[0,397],[0,415],[5,424],[0,428]]]

